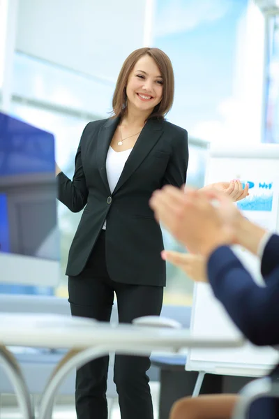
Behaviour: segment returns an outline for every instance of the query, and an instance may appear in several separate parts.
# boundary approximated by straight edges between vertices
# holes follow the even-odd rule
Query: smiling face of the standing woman
[[[152,112],[163,96],[163,78],[149,55],[141,57],[131,71],[126,87],[128,108]]]

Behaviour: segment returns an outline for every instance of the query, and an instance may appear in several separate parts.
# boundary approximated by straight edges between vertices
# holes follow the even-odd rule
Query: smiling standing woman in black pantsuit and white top
[[[157,48],[134,51],[119,73],[112,117],[84,128],[73,180],[56,167],[59,200],[83,210],[66,270],[73,316],[110,321],[114,293],[121,323],[160,314],[163,237],[149,199],[165,184],[186,182],[188,166],[187,131],[165,120],[173,97],[167,55]],[[215,186],[235,200],[248,193],[238,182]],[[78,419],[107,418],[107,367],[105,357],[77,371]],[[122,419],[153,418],[149,367],[149,358],[116,355]]]

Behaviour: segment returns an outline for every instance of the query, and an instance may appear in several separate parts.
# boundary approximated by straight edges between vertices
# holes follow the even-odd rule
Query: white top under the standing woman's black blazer
[[[133,148],[124,150],[123,152],[116,152],[112,147],[107,152],[106,170],[107,170],[107,182],[109,182],[110,192],[112,193],[115,189],[119,177],[123,171],[125,163],[130,156],[130,152]],[[103,230],[106,228],[106,222],[103,225]]]

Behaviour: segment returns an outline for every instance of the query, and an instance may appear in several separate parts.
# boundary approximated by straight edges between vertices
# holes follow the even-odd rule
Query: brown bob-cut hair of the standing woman
[[[172,108],[172,103],[174,101],[174,71],[172,68],[172,62],[169,57],[167,57],[167,54],[165,54],[162,50],[159,50],[159,48],[145,47],[135,50],[124,61],[116,82],[114,96],[112,98],[113,118],[123,117],[123,115],[125,115],[127,108],[126,86],[128,78],[137,61],[144,55],[149,55],[153,58],[163,77],[162,100],[158,103],[158,105],[156,105],[147,119],[164,119],[167,112],[169,112]]]

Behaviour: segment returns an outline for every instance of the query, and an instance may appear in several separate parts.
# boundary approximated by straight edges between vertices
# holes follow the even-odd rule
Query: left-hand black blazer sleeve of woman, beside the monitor
[[[84,135],[88,130],[89,124],[87,124],[84,128],[82,138],[80,139],[80,144],[77,148],[73,180],[70,180],[63,172],[60,172],[59,175],[56,176],[58,184],[57,198],[72,212],[80,212],[87,203],[88,189],[86,186],[84,170],[82,168],[81,149]]]

